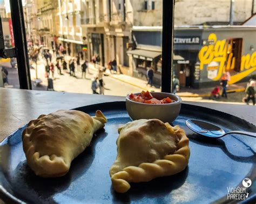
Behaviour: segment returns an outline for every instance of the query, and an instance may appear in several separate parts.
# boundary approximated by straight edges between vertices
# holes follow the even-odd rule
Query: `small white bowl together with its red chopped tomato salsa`
[[[132,120],[159,119],[172,123],[179,115],[181,98],[172,93],[130,93],[126,96],[126,110]]]

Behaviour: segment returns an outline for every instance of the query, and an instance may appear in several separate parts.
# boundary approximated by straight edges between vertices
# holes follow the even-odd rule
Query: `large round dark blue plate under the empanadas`
[[[214,123],[225,131],[255,132],[256,127],[232,115],[199,106],[183,104],[173,125],[184,128],[190,138],[188,167],[173,176],[150,182],[132,183],[125,194],[114,192],[109,169],[116,159],[117,128],[130,121],[124,102],[76,108],[93,115],[102,110],[109,120],[93,137],[91,146],[73,160],[70,172],[62,178],[39,178],[26,164],[21,134],[25,126],[9,135],[0,145],[1,198],[7,202],[31,203],[210,203],[231,202],[228,189],[252,185],[236,198],[252,202],[256,192],[256,142],[242,135],[220,139],[202,138],[185,126],[186,119]]]

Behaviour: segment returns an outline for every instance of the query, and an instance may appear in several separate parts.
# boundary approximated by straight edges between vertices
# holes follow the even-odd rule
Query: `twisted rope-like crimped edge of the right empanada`
[[[179,138],[177,150],[173,154],[166,155],[164,159],[152,163],[142,163],[138,167],[129,166],[123,171],[113,174],[111,176],[112,185],[118,193],[127,192],[130,189],[130,182],[146,182],[154,178],[177,174],[186,168],[190,158],[190,148],[185,131],[178,125],[174,127],[169,123],[165,123],[165,125],[169,130],[170,128],[174,130]]]

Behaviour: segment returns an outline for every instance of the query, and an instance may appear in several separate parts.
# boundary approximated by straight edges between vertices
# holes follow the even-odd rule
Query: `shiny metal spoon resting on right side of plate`
[[[226,133],[220,127],[213,125],[211,123],[207,123],[205,121],[201,121],[201,120],[186,120],[186,125],[193,132],[196,132],[200,135],[204,135],[210,138],[221,138],[227,134],[243,134],[243,135],[256,138],[256,133],[253,133],[253,132],[231,131]]]

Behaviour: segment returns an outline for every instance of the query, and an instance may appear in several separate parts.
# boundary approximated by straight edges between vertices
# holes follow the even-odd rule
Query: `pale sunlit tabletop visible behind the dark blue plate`
[[[103,102],[124,101],[125,97],[0,88],[0,99],[0,141],[2,141],[18,127],[27,124],[40,114]],[[184,103],[223,111],[252,124],[256,121],[255,106],[187,101]]]

